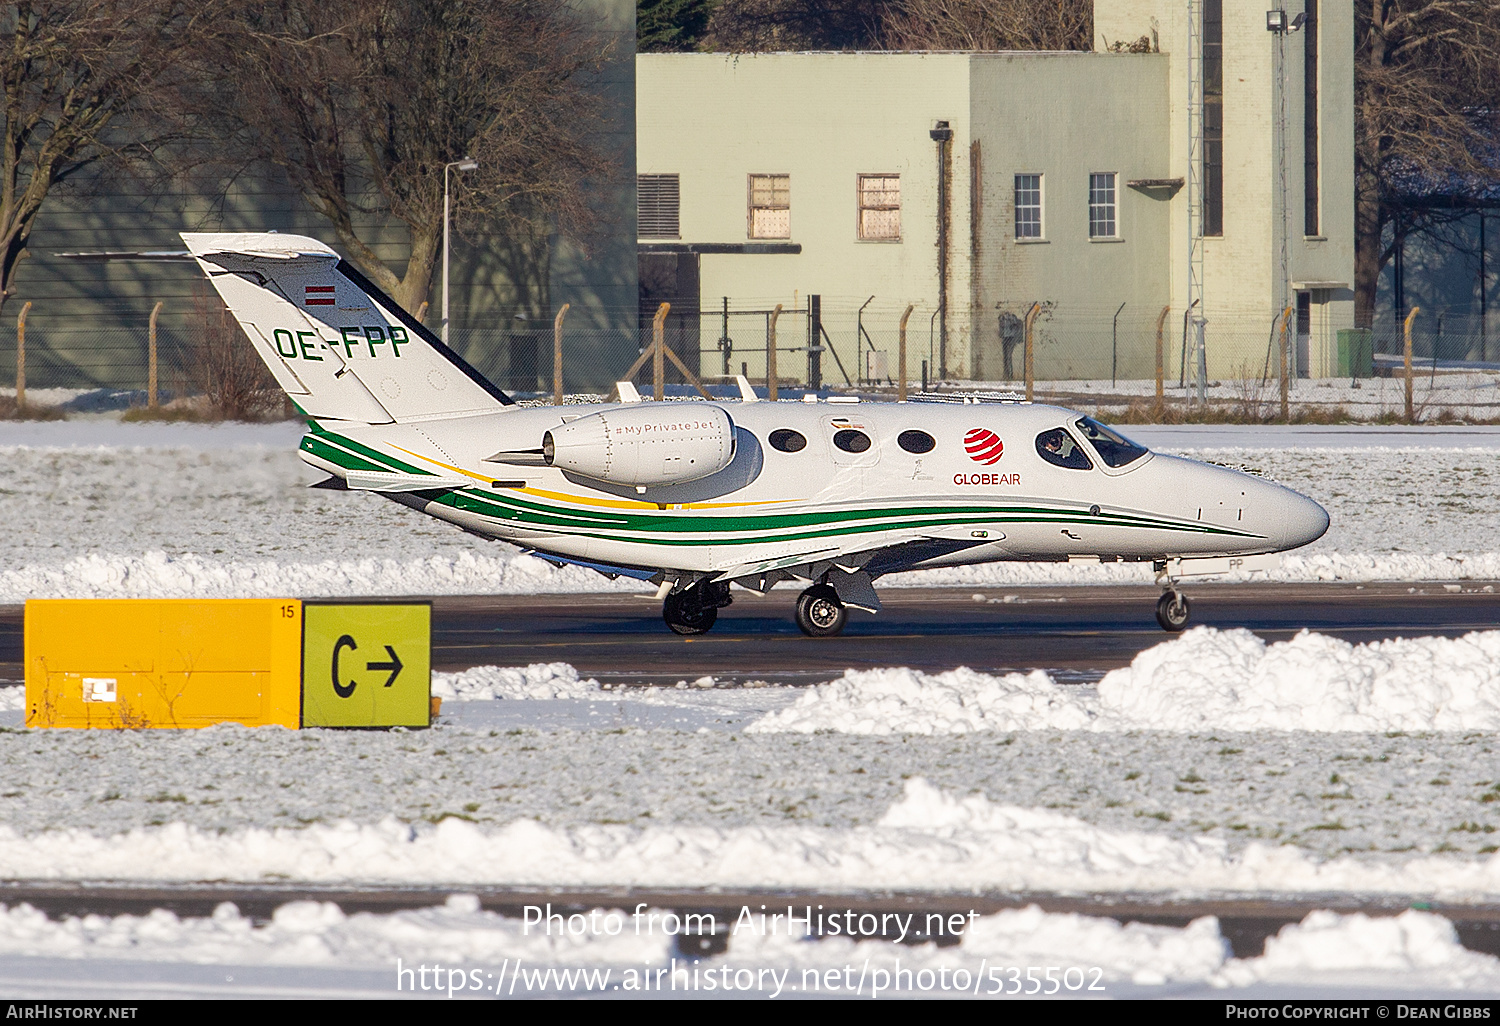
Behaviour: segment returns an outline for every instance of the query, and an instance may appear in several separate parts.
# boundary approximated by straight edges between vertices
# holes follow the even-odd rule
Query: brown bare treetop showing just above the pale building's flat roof
[[[891,0],[891,50],[1092,50],[1092,0]]]

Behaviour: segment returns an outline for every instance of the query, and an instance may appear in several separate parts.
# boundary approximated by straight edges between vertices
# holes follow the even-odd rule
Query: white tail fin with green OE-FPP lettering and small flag
[[[514,405],[316,238],[182,237],[276,384],[309,417],[382,424]]]

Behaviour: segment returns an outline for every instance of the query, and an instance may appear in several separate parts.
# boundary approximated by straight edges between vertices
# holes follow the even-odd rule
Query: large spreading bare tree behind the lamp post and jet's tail
[[[346,255],[406,309],[428,298],[442,246],[444,165],[454,226],[586,242],[590,180],[614,168],[592,75],[609,57],[567,0],[240,0],[206,54],[230,153],[278,168]],[[376,237],[405,225],[402,273]]]

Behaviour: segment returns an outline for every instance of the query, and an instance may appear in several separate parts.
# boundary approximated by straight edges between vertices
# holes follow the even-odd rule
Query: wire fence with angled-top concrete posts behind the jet
[[[813,297],[816,298],[816,297]],[[786,388],[894,392],[898,314],[894,306],[801,302],[674,310],[664,320],[666,345],[706,384],[729,386],[742,375],[762,393],[768,346],[776,339],[777,382]],[[8,304],[20,310],[21,303]],[[1030,338],[1038,399],[1092,404],[1130,417],[1192,418],[1190,338],[1180,318],[1164,318],[1160,363],[1164,406],[1156,394],[1158,332],[1137,316],[1102,321],[1046,310]],[[10,320],[10,318],[8,318]],[[150,304],[120,309],[100,324],[51,316],[36,303],[24,318],[24,380],[28,405],[74,410],[146,406],[152,376]],[[1150,318],[1154,321],[1155,318]],[[0,396],[15,394],[20,326],[0,344]],[[525,396],[554,392],[554,318],[501,315],[458,327],[453,348],[501,387]],[[946,339],[934,310],[908,327],[906,378],[912,390],[1022,390],[1026,327],[1016,309],[968,310],[951,316]],[[1268,318],[1264,326],[1210,324],[1212,378],[1197,416],[1274,420],[1281,414],[1281,346],[1287,346],[1287,392],[1293,405],[1322,406],[1328,417],[1401,418],[1406,338],[1400,324],[1374,330],[1298,332]],[[1329,338],[1336,336],[1336,338]],[[0,339],[4,336],[0,334]],[[562,386],[568,393],[608,394],[650,344],[642,310],[579,309],[561,326]],[[232,418],[280,416],[288,408],[270,375],[254,358],[237,322],[218,297],[176,300],[154,330],[156,382],[162,406],[196,402]],[[248,360],[246,360],[248,358]],[[1412,326],[1414,418],[1500,418],[1500,332],[1462,312],[1420,312]],[[668,364],[668,382],[682,384]],[[1395,384],[1392,384],[1395,382]],[[642,390],[645,392],[645,390]],[[266,393],[266,394],[262,394]],[[270,396],[270,398],[266,398]],[[1167,410],[1170,408],[1170,410]],[[1269,411],[1269,412],[1268,412]]]

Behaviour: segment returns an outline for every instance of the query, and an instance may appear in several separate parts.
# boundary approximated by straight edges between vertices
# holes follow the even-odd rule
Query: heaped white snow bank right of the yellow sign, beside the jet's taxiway
[[[1352,645],[1302,632],[1268,645],[1196,627],[1100,681],[1041,670],[849,670],[747,732],[1500,730],[1500,632]]]

